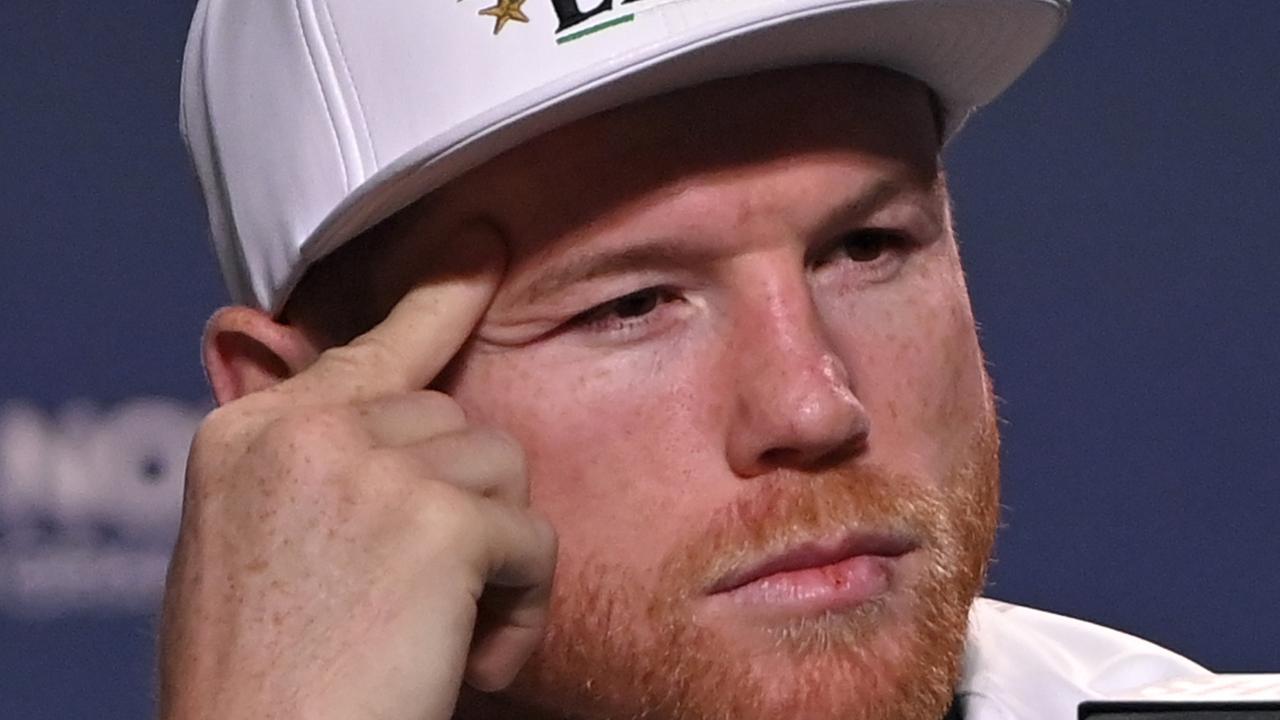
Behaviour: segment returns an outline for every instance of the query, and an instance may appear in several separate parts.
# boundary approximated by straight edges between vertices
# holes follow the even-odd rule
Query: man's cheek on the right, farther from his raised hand
[[[876,460],[924,477],[946,475],[988,411],[963,275],[957,261],[938,260],[937,269],[864,291],[852,306],[820,304],[870,415]]]

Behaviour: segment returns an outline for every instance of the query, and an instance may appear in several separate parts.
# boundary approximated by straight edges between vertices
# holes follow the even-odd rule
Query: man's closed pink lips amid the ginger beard
[[[850,610],[886,594],[918,548],[909,537],[876,533],[803,542],[731,570],[707,600],[787,614]]]

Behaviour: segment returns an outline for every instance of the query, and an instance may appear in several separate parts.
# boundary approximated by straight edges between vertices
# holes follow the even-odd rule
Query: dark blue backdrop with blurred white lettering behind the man
[[[0,717],[150,714],[197,345],[189,0],[0,6]],[[1280,4],[1079,3],[948,151],[997,597],[1280,670]]]

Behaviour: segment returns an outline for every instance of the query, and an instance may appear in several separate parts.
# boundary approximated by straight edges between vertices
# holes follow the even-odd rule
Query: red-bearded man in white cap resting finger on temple
[[[1062,10],[202,3],[244,305],[163,714],[1070,717],[1199,671],[974,601],[998,439],[938,155]]]

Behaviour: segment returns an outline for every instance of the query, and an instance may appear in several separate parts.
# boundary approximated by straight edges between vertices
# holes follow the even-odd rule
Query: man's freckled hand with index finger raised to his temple
[[[486,309],[490,255],[206,419],[169,570],[161,717],[444,720],[463,679],[499,689],[532,652],[556,536],[529,510],[521,450],[421,389]]]

